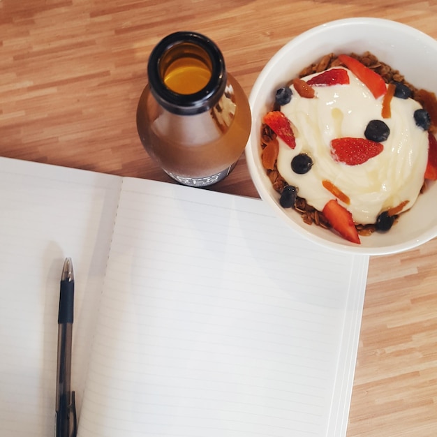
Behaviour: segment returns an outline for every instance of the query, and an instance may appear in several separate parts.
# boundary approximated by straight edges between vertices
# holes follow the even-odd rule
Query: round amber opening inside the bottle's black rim
[[[205,50],[192,44],[172,47],[161,59],[165,86],[177,94],[195,94],[211,79],[211,60]]]

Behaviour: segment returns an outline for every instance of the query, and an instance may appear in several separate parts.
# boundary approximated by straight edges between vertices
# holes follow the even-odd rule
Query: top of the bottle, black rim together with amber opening
[[[225,91],[225,61],[202,34],[176,32],[152,50],[147,65],[151,94],[166,110],[181,115],[205,112]]]

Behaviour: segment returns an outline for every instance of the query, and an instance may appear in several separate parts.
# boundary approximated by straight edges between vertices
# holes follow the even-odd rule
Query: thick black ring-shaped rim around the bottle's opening
[[[176,47],[191,43],[204,50],[211,62],[211,77],[199,91],[193,94],[179,94],[164,83],[161,75],[161,60],[165,54]],[[192,31],[178,31],[165,36],[151,51],[147,64],[147,75],[151,94],[166,110],[175,114],[199,114],[218,102],[225,91],[227,75],[223,54],[207,36]]]

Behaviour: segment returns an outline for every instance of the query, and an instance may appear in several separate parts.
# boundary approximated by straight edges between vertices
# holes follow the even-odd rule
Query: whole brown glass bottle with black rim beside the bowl
[[[137,128],[151,158],[177,182],[208,186],[244,151],[251,111],[216,44],[202,34],[170,34],[152,50]]]

